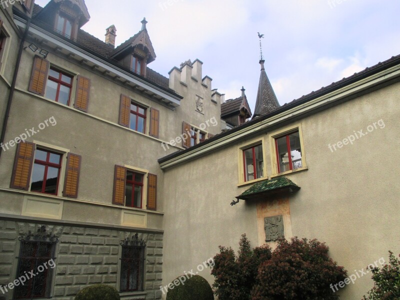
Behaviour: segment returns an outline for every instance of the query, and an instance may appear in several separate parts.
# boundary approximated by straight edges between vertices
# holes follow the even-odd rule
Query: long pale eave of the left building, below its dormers
[[[24,29],[26,20],[14,14],[15,24]],[[152,83],[139,74],[129,72],[112,64],[106,57],[95,55],[90,49],[83,49],[72,40],[65,40],[52,34],[34,24],[29,27],[29,38],[37,43],[42,43],[46,50],[57,55],[64,55],[68,59],[74,59],[77,63],[102,73],[104,76],[113,80],[118,80],[120,84],[132,89],[152,101],[155,101],[169,109],[174,110],[180,105],[183,97],[176,92],[167,91],[165,88]]]

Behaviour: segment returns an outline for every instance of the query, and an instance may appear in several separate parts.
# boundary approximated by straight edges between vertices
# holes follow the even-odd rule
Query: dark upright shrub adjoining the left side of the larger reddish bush
[[[251,249],[245,234],[239,241],[238,256],[231,247],[219,246],[214,256],[211,274],[213,287],[219,300],[249,300],[251,287],[257,276],[258,265],[271,257],[268,245]]]

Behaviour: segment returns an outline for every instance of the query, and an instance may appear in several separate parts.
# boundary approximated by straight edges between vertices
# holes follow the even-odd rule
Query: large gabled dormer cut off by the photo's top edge
[[[78,29],[90,19],[90,15],[84,0],[51,0],[35,19],[65,37],[76,39]]]

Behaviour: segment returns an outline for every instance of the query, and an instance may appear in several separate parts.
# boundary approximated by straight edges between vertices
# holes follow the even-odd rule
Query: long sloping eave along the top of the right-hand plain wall
[[[161,157],[158,159],[158,163],[161,169],[165,170],[179,163],[206,155],[239,139],[265,132],[271,127],[282,125],[285,122],[293,121],[296,118],[304,117],[351,99],[367,89],[398,80],[400,80],[400,57],[370,68],[368,71],[350,77],[348,80],[340,81],[321,92],[309,94],[298,101],[283,105],[271,113],[253,118],[193,147]]]

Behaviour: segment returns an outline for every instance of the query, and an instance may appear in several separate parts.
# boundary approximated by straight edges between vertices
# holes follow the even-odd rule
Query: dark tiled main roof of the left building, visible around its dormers
[[[33,6],[33,12],[32,12],[32,18],[34,19],[35,16],[43,9],[43,7],[34,4]],[[93,52],[104,56],[107,59],[111,59],[111,55],[115,53],[117,49],[123,48],[125,45],[129,44],[141,31],[130,37],[129,39],[125,40],[122,44],[117,46],[115,49],[111,45],[105,43],[104,41],[98,39],[97,37],[91,35],[90,33],[87,33],[86,31],[79,29],[78,30],[78,36],[76,42]],[[115,63],[116,66],[117,63]],[[146,76],[148,80],[164,87],[167,89],[169,88],[169,78],[161,75],[160,73],[152,70],[151,68],[147,67],[146,69]]]

